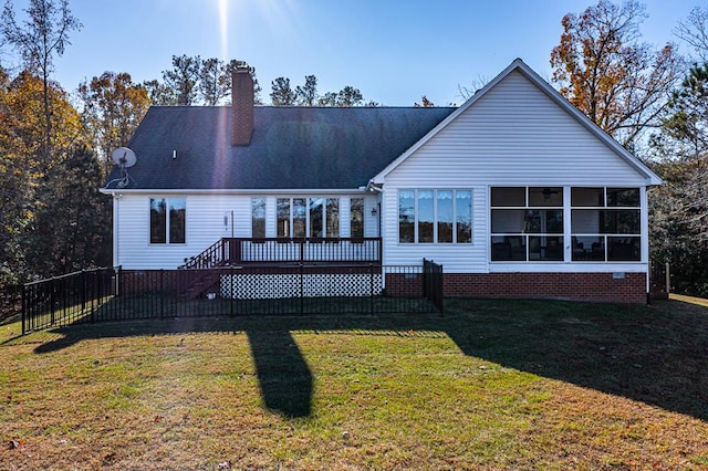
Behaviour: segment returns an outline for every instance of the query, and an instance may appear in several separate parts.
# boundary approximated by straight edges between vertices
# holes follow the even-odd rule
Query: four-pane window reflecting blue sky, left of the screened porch
[[[398,242],[471,243],[472,191],[399,190]]]

